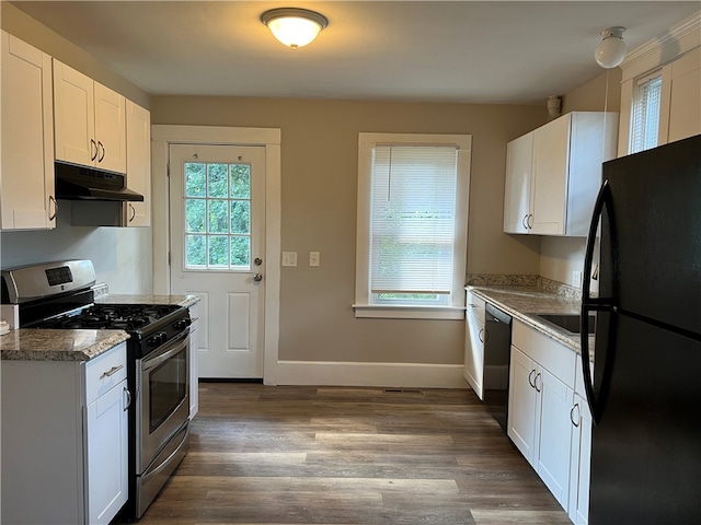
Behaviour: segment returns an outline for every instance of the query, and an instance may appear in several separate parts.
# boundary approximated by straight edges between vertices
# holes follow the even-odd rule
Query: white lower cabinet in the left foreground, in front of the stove
[[[88,362],[2,362],[3,523],[114,518],[128,497],[126,369],[126,343]]]

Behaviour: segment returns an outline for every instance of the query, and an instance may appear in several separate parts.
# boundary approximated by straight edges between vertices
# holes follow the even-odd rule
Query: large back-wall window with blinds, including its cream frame
[[[471,148],[359,135],[356,317],[464,318]]]

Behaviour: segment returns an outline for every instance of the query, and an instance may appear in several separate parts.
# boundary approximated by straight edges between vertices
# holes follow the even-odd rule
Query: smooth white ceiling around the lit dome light
[[[153,95],[543,103],[597,77],[599,33],[629,50],[696,1],[13,1]],[[298,50],[261,23],[303,7],[326,27]]]

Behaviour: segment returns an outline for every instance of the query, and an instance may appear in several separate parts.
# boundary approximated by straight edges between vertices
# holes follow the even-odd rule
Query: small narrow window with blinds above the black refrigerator
[[[660,94],[662,73],[637,81],[631,112],[631,153],[657,147]]]

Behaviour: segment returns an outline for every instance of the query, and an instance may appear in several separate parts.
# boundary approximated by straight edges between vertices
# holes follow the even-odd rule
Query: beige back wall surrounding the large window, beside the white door
[[[539,240],[502,233],[506,142],[542,125],[544,106],[401,104],[154,96],[160,125],[281,129],[283,268],[279,358],[291,361],[462,362],[461,322],[356,319],[357,143],[360,131],[473,137],[468,271],[537,273]],[[309,252],[321,267],[309,268]]]

